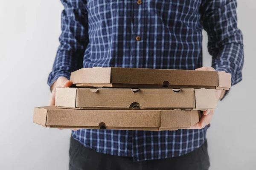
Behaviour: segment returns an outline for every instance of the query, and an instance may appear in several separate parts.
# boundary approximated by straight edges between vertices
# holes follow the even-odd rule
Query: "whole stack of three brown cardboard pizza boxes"
[[[34,110],[44,127],[177,130],[216,108],[216,90],[228,90],[223,71],[145,68],[82,68],[71,88],[57,88],[55,106]]]

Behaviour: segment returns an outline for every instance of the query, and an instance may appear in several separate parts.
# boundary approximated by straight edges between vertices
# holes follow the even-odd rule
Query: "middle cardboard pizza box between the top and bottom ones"
[[[56,88],[61,108],[195,109],[216,108],[215,89]]]

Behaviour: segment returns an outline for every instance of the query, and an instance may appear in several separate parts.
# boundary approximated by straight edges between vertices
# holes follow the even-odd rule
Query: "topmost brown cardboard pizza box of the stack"
[[[147,68],[82,68],[71,73],[78,87],[206,88],[228,90],[231,74],[223,71],[193,71]]]

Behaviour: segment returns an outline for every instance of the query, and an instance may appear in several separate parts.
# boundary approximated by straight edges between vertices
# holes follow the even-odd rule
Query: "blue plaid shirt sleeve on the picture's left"
[[[49,74],[51,86],[58,77],[70,79],[73,71],[82,68],[83,56],[88,40],[88,15],[84,4],[79,0],[61,0],[64,10],[61,13],[60,45]]]

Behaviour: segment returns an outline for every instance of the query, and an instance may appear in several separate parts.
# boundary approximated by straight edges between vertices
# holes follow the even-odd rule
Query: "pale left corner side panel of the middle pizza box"
[[[76,108],[76,88],[56,88],[55,105]]]

